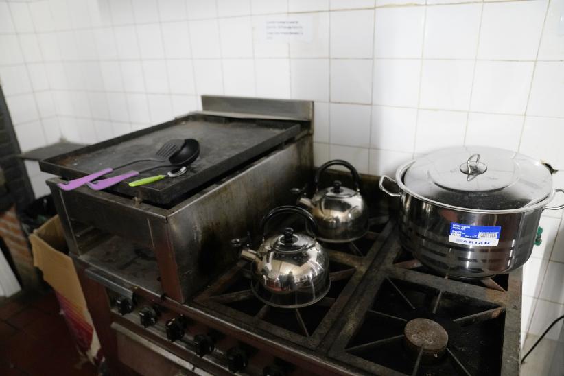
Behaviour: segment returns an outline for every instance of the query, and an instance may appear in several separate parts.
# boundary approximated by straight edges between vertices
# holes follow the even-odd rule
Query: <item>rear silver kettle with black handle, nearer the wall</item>
[[[319,189],[321,174],[331,166],[341,165],[349,169],[355,189],[343,187],[339,180],[332,187]],[[352,242],[368,231],[368,207],[360,194],[360,175],[351,163],[336,159],[319,167],[314,178],[315,193],[312,198],[300,196],[302,204],[312,213],[319,228],[318,239],[330,243]],[[303,191],[292,189],[294,193]]]

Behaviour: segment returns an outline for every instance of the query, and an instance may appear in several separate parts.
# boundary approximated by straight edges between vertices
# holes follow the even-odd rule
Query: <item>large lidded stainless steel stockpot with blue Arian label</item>
[[[502,152],[496,160],[493,156],[497,149],[473,148],[471,150],[480,150],[480,156],[471,155],[460,165],[460,159],[444,160],[452,158],[453,150],[458,151],[456,155],[463,154],[460,148],[443,150],[423,157],[421,162],[411,161],[400,166],[396,180],[381,176],[380,188],[390,196],[399,196],[401,201],[401,244],[425,266],[452,277],[481,279],[523,266],[531,255],[541,213],[543,209],[549,209],[546,204],[556,191],[561,190],[552,189],[552,178],[544,165],[521,154],[511,152],[514,158],[508,158],[509,152]],[[493,163],[489,163],[487,169],[480,167],[489,158],[492,158]],[[468,168],[469,174],[462,171],[465,168]],[[412,184],[408,186],[405,180],[410,172]],[[530,175],[523,175],[524,172]],[[426,181],[425,176],[429,177]],[[467,180],[467,176],[472,178]],[[532,178],[539,180],[532,182]],[[399,193],[388,191],[384,187],[386,180],[397,184]],[[527,188],[524,189],[524,186]],[[426,197],[421,195],[425,189],[428,189],[427,192],[443,190],[449,193],[447,196],[433,196],[434,193],[430,193],[431,196]],[[512,200],[511,189],[514,193],[521,191],[520,197],[523,199]],[[534,189],[538,192],[535,193]],[[504,209],[462,207],[468,205],[457,204],[457,196],[460,202],[475,198],[475,202],[480,202],[478,207],[484,205]],[[438,201],[445,197],[445,202]],[[517,201],[526,203],[515,207]],[[473,228],[499,227],[497,241],[489,242],[485,238],[451,239],[453,224]]]

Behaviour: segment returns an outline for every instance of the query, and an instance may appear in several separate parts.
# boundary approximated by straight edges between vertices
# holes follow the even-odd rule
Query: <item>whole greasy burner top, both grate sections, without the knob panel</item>
[[[333,285],[316,305],[264,305],[250,291],[246,262],[194,303],[284,346],[303,346],[353,373],[517,373],[521,272],[482,281],[442,277],[404,251],[395,224],[385,222],[385,217],[373,218],[371,231],[353,243],[323,244]],[[421,341],[440,346],[433,350]]]

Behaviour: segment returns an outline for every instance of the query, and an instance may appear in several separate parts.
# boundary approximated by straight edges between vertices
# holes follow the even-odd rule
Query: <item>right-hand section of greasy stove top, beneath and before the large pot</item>
[[[516,375],[520,307],[520,270],[449,279],[421,266],[393,231],[337,322],[329,356],[377,375]]]

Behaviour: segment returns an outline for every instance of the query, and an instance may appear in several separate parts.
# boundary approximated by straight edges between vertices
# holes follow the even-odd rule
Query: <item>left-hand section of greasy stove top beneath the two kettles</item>
[[[323,244],[329,252],[331,288],[327,296],[314,305],[297,309],[270,307],[250,290],[250,267],[239,261],[194,301],[229,318],[252,325],[281,338],[316,349],[333,327],[355,287],[362,279],[368,262],[377,251],[377,238],[389,218],[375,218],[370,231],[355,242]]]

